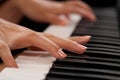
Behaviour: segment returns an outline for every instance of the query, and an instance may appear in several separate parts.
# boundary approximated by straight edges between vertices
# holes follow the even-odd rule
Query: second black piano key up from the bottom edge
[[[99,69],[85,69],[85,68],[79,68],[79,69],[75,69],[75,68],[70,68],[70,67],[57,67],[57,68],[52,68],[53,69],[53,72],[63,72],[65,71],[66,73],[68,74],[71,74],[71,73],[74,73],[76,74],[77,76],[81,75],[81,74],[93,74],[93,75],[106,75],[106,76],[111,76],[111,77],[119,77],[120,78],[120,73],[115,74],[114,73],[111,73],[111,71],[108,71],[108,70],[105,70],[105,71],[108,71],[108,72],[105,72],[105,71],[100,71]],[[113,71],[112,71],[113,72]]]

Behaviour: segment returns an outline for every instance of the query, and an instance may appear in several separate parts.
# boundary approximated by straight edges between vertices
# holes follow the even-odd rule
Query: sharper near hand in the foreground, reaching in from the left
[[[86,47],[81,44],[88,42],[89,39],[90,36],[62,39],[0,19],[0,57],[7,67],[17,67],[10,50],[35,46],[50,52],[56,58],[65,58],[67,54],[62,49],[82,54]]]

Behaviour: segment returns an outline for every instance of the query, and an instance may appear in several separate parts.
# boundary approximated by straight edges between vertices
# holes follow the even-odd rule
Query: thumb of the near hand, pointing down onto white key
[[[18,67],[10,52],[9,47],[2,40],[0,40],[0,57],[7,67]]]

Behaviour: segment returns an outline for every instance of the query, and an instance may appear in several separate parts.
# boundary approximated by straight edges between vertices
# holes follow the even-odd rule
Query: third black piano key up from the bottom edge
[[[86,60],[73,60],[73,59],[64,59],[64,60],[57,60],[55,62],[56,65],[61,66],[61,64],[64,66],[74,67],[74,68],[95,68],[95,69],[106,69],[106,70],[114,70],[119,71],[119,64],[112,64],[112,63],[106,63],[106,62],[98,62],[98,61],[86,61]]]

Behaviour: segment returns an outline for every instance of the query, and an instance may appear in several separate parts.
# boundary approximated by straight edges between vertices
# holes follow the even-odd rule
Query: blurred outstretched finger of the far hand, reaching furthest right
[[[96,20],[96,16],[91,10],[84,9],[84,8],[82,8],[80,6],[76,6],[76,5],[64,4],[64,8],[62,8],[61,14],[71,14],[71,13],[80,14],[83,17],[85,17],[91,21]]]

